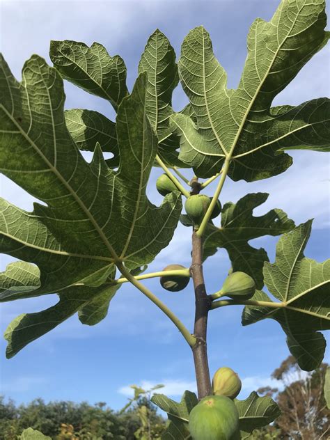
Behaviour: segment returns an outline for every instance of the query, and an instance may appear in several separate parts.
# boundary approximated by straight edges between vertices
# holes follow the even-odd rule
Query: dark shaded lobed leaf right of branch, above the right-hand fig
[[[236,204],[225,203],[221,211],[221,226],[207,226],[203,242],[203,258],[214,255],[217,249],[228,252],[234,272],[245,272],[253,278],[258,289],[262,288],[262,267],[268,261],[265,249],[256,249],[249,240],[264,235],[280,235],[294,228],[294,222],[279,209],[270,210],[260,217],[253,216],[253,209],[265,203],[267,193],[252,193]],[[187,224],[187,218],[181,216]]]

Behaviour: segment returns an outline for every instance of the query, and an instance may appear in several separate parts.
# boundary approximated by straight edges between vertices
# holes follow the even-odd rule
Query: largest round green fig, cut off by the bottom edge
[[[233,400],[224,395],[208,395],[189,414],[193,440],[239,439],[239,416]]]

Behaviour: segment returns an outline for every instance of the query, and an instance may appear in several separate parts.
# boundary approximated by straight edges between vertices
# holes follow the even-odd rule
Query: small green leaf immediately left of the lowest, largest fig
[[[164,394],[154,394],[151,398],[152,403],[167,413],[168,425],[162,435],[162,440],[188,440],[191,439],[188,423],[189,414],[198,399],[195,393],[184,391],[181,402],[175,402]]]

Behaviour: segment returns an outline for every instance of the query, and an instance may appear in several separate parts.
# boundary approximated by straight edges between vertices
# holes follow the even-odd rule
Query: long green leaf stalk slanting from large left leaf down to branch
[[[190,347],[194,347],[196,343],[196,338],[193,335],[191,335],[191,333],[189,333],[187,327],[185,327],[184,324],[182,324],[179,318],[159,298],[157,298],[155,294],[150,292],[150,290],[147,289],[146,286],[139,283],[139,281],[136,280],[136,278],[132,274],[129,274],[128,270],[124,267],[122,262],[119,262],[117,264],[117,267],[120,273],[127,279],[127,281],[129,281],[130,283],[132,283],[132,285],[138,288],[140,292],[146,295],[146,297],[149,298],[150,301],[156,304],[156,306],[159,307],[160,310],[164,312],[167,317],[169,317],[169,319],[173,322],[175,327],[177,327],[179,331],[182,333],[184,339],[187,340],[187,343],[190,345]]]

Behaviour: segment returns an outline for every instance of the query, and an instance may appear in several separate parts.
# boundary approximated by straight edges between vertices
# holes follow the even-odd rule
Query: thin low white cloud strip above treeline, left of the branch
[[[159,388],[158,390],[153,391],[152,394],[162,393],[167,396],[182,396],[182,394],[186,390],[192,391],[194,393],[196,393],[197,391],[196,382],[187,382],[180,379],[165,379],[159,380],[159,382],[143,380],[139,383],[139,386],[141,386],[141,388],[143,388],[144,390],[149,390],[157,384],[163,384],[164,388]],[[132,396],[134,395],[134,391],[132,390],[132,388],[130,388],[129,385],[119,388],[118,393],[126,395],[129,398],[132,398]]]

